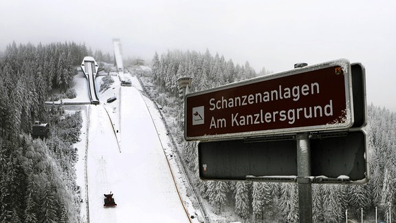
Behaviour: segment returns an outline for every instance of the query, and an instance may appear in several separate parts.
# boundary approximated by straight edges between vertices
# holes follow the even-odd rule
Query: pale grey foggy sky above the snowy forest
[[[367,103],[396,111],[396,1],[1,0],[6,45],[74,41],[124,57],[195,50],[259,72],[348,59],[366,67]]]

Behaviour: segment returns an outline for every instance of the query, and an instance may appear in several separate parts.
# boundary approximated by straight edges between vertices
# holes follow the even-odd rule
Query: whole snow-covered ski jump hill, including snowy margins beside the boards
[[[86,102],[89,98],[87,80],[81,76],[75,78],[78,96],[67,102]],[[80,106],[84,120],[81,141],[75,147],[83,220],[199,222],[186,198],[185,179],[177,169],[159,111],[140,94],[135,77],[131,76],[133,87],[120,87],[118,77],[113,79],[112,87],[99,94],[100,105]],[[97,89],[99,83],[100,77]],[[111,96],[117,100],[107,103]],[[104,208],[103,194],[110,192],[118,205]]]

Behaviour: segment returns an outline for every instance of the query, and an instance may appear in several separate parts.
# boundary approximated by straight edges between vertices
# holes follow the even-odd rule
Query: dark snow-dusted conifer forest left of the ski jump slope
[[[79,222],[76,185],[80,112],[44,102],[54,89],[73,86],[85,45],[8,45],[0,58],[0,222]],[[32,123],[50,124],[45,139],[33,139]]]

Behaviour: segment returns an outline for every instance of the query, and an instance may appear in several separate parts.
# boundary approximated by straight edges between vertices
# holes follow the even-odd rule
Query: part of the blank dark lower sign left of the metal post
[[[247,176],[296,176],[296,141],[200,142],[199,176],[211,180],[245,180]]]

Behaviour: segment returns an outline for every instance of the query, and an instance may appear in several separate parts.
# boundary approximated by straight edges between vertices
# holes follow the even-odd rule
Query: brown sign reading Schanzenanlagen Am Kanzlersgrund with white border
[[[185,98],[186,140],[245,138],[353,125],[351,64],[340,59]]]

